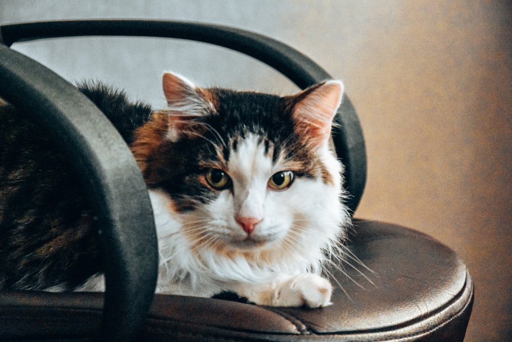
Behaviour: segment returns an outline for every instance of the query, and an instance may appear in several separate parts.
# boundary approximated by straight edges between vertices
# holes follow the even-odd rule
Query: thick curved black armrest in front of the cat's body
[[[78,89],[0,44],[0,96],[26,110],[68,148],[100,222],[106,291],[101,336],[127,340],[154,295],[158,247],[142,173],[117,130]]]

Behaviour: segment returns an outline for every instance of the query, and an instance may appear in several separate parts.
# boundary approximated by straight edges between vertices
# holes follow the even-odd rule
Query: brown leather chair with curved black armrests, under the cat
[[[269,308],[154,295],[155,227],[129,149],[75,87],[9,48],[29,39],[80,35],[191,39],[258,58],[301,88],[330,78],[311,59],[274,39],[222,26],[117,20],[0,26],[0,96],[51,126],[69,146],[83,183],[92,189],[89,195],[104,226],[102,252],[109,260],[104,294],[0,292],[0,340],[463,340],[473,304],[473,283],[463,261],[429,236],[370,220],[354,221],[348,246],[359,271],[348,264],[339,265],[345,273],[332,270],[340,285],[332,306]],[[345,186],[355,211],[365,186],[366,154],[346,97],[336,120],[333,143],[347,167]]]

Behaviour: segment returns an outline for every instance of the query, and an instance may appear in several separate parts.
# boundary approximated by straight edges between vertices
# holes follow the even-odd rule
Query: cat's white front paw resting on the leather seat
[[[273,306],[319,308],[331,305],[332,286],[316,274],[295,275],[275,289]]]

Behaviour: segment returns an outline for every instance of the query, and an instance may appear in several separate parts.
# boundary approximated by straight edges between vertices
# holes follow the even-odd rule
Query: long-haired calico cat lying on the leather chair
[[[330,304],[319,275],[350,218],[329,146],[343,85],[276,96],[163,75],[167,108],[81,85],[130,146],[159,241],[156,292],[228,291],[267,306]],[[101,291],[98,227],[62,146],[0,106],[0,289]]]

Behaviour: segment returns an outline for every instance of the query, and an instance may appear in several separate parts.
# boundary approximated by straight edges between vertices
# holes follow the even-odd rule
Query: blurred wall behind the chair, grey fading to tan
[[[365,133],[356,217],[408,226],[466,262],[475,305],[466,341],[512,340],[512,5],[455,0],[0,0],[0,24],[153,18],[277,38],[342,79]],[[257,61],[200,43],[74,38],[14,48],[70,81],[101,79],[165,105],[164,70],[198,85],[297,88]]]

